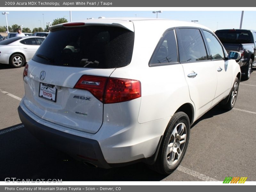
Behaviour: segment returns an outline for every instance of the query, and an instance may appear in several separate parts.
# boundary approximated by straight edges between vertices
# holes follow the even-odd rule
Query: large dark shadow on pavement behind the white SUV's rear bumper
[[[16,179],[59,179],[62,181],[159,181],[158,174],[143,163],[99,169],[84,165],[35,139],[25,127],[0,134],[0,181]],[[2,131],[2,130],[1,130]]]

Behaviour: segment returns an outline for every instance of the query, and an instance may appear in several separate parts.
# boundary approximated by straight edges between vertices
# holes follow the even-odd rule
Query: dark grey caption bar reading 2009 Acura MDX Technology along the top
[[[249,5],[250,4],[250,5]],[[4,0],[0,7],[240,7],[240,0]],[[248,2],[248,6],[256,7],[256,1]]]

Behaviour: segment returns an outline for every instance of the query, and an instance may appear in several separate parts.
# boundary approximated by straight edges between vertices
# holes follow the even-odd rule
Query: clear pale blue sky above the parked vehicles
[[[43,8],[45,9],[45,8]],[[136,9],[134,9],[136,10]],[[221,9],[220,9],[221,10]],[[46,26],[46,22],[52,22],[57,18],[67,18],[70,20],[69,11],[11,11],[3,10],[1,12],[9,12],[7,15],[8,25],[23,25],[23,28],[33,28]],[[156,18],[158,11],[152,8],[148,11],[72,11],[72,21],[85,20],[86,18],[98,18],[100,16],[108,17],[145,17]],[[189,21],[198,20],[202,24],[213,31],[224,28],[239,28],[241,20],[241,11],[163,11],[158,13],[158,18]],[[256,11],[244,11],[243,26],[244,29],[255,29]],[[5,16],[0,15],[0,26],[6,26]]]

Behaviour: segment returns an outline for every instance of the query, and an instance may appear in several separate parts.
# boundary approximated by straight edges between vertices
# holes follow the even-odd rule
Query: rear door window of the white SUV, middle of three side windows
[[[180,62],[208,60],[199,29],[179,29]]]

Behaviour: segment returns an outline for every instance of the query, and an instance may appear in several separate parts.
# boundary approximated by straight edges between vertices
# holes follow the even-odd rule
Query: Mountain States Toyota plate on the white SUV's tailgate
[[[57,89],[54,85],[40,83],[39,86],[39,97],[52,102],[56,102]]]

